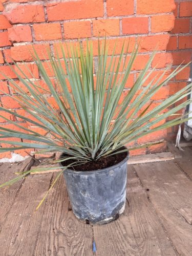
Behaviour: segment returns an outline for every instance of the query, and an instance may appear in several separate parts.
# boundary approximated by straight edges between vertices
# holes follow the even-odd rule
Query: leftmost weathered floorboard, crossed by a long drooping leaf
[[[0,167],[0,183],[3,184],[6,181],[14,179],[16,177],[15,173],[18,172],[19,169],[20,165],[17,164],[2,164]],[[0,232],[22,182],[23,180],[20,180],[9,188],[3,187],[0,189]]]

